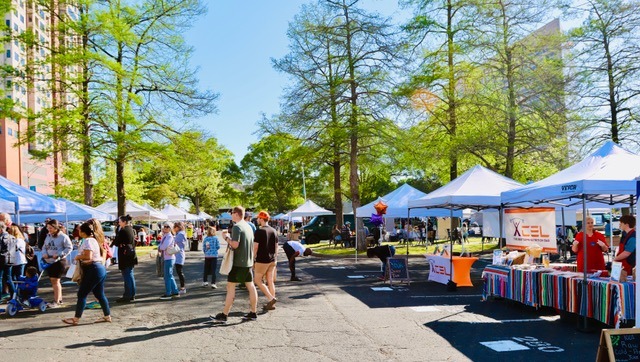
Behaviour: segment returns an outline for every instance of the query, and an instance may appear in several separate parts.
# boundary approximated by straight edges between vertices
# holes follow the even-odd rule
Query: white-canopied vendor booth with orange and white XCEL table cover
[[[510,178],[476,165],[439,189],[420,199],[410,201],[409,208],[447,208],[452,213],[452,216],[453,210],[500,208],[500,193],[520,186],[522,184]],[[453,230],[453,220],[451,229]],[[450,239],[449,250],[453,250],[453,238]],[[461,281],[462,284],[460,286],[471,286],[469,274],[471,265],[477,258],[458,257],[457,261],[454,262],[453,253],[450,252],[448,259],[449,270],[453,271],[453,275],[449,273],[448,278],[438,278],[436,281],[447,284],[451,289],[455,289],[458,286],[456,279]],[[434,261],[433,264],[432,260]],[[437,256],[433,256],[430,259],[429,275],[440,272],[440,270],[434,269],[435,265],[439,265],[435,264],[435,261],[441,262],[442,260]]]

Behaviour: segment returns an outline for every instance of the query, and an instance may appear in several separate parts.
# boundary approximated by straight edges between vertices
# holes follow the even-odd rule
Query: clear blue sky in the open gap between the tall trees
[[[209,11],[186,35],[195,47],[192,64],[200,67],[200,87],[220,93],[218,113],[197,121],[240,162],[257,141],[256,122],[278,113],[287,77],[271,67],[271,58],[288,52],[287,27],[302,0],[207,0]],[[390,16],[395,0],[362,0],[361,6]]]

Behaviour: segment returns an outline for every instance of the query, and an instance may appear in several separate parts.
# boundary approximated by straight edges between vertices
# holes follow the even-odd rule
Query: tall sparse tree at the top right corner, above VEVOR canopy
[[[640,145],[640,2],[588,0],[577,9],[585,16],[570,31],[579,109],[578,131],[588,148],[605,140]]]

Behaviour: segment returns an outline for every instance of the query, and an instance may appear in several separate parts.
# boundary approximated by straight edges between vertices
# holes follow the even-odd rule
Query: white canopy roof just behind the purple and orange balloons
[[[451,216],[451,211],[448,209],[413,209],[409,214],[409,202],[426,196],[424,192],[412,187],[411,185],[404,184],[390,193],[378,197],[375,201],[372,201],[364,206],[360,206],[357,211],[358,217],[369,217],[371,214],[376,213],[376,209],[373,207],[379,201],[382,201],[387,205],[387,213],[384,217],[387,218],[406,218],[410,217],[424,217],[424,216]],[[453,216],[460,217],[460,212],[454,212]]]

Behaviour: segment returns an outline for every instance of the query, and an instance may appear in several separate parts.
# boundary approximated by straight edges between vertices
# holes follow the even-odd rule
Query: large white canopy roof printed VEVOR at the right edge
[[[538,182],[502,193],[507,205],[565,200],[575,205],[585,195],[588,207],[596,203],[622,206],[636,194],[640,156],[608,141],[582,161]]]

